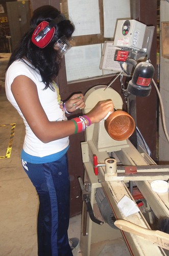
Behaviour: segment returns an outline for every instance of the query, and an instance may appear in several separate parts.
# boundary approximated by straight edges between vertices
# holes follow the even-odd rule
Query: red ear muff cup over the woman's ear
[[[54,36],[55,28],[53,27],[47,29],[48,25],[49,23],[45,22],[44,20],[36,27],[33,32],[32,42],[39,48],[44,48],[46,45],[48,45]],[[48,30],[47,32],[45,32],[45,28],[46,31]]]

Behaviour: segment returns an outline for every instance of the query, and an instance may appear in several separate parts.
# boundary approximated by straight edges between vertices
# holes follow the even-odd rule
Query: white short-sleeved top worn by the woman
[[[15,98],[13,97],[13,94],[11,92],[11,84],[14,78],[19,75],[25,75],[34,81],[34,83],[37,86],[40,103],[50,121],[67,120],[67,118],[65,117],[64,112],[60,109],[59,106],[60,94],[57,84],[54,84],[55,91],[52,91],[50,88],[43,90],[45,84],[41,81],[42,78],[39,72],[36,72],[33,68],[31,68],[30,63],[27,62],[27,64],[24,61],[16,60],[8,68],[6,72],[5,81],[6,95],[8,100],[11,102],[14,108],[18,111],[19,115],[22,117],[23,122],[26,126],[26,136],[23,143],[23,150],[27,154],[36,157],[49,156],[64,150],[69,144],[69,139],[68,137],[65,137],[63,139],[58,139],[49,143],[43,143],[35,136],[30,126],[28,125],[25,117],[20,111],[19,106],[17,105]]]

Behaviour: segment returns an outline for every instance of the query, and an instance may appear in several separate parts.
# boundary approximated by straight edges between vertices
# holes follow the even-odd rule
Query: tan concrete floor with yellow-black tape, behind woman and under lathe
[[[16,123],[16,126],[14,136],[10,138],[11,123]],[[24,136],[25,125],[8,102],[4,81],[0,79],[0,256],[37,256],[38,197],[20,164],[20,151]],[[10,157],[7,158],[7,148],[12,138],[12,151]],[[80,239],[80,228],[81,215],[70,218],[69,238]],[[80,247],[73,254],[81,256]],[[98,255],[127,256],[130,253],[122,239],[122,241],[114,241],[112,246],[107,245],[99,253],[90,256]]]

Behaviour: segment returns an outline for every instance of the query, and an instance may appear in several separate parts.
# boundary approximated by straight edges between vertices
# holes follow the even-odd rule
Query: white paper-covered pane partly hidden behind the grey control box
[[[104,37],[114,37],[117,19],[130,19],[130,0],[103,0]]]

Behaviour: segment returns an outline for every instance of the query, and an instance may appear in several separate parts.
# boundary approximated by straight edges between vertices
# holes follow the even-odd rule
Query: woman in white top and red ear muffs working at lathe
[[[21,162],[39,196],[39,256],[73,255],[67,237],[68,136],[83,132],[113,111],[112,101],[105,100],[98,102],[86,116],[71,120],[65,117],[65,112],[85,107],[81,93],[62,105],[54,81],[73,32],[73,24],[56,8],[36,9],[30,30],[12,53],[6,72],[7,98],[26,126]]]

